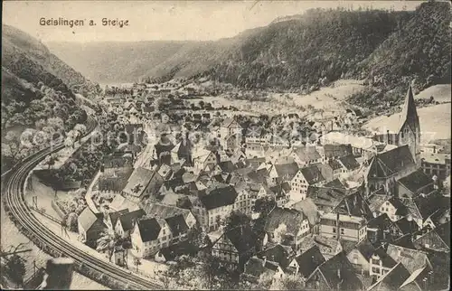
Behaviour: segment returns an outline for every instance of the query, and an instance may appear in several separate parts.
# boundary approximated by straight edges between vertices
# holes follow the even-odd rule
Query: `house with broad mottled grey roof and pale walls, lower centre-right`
[[[306,236],[309,229],[309,221],[302,212],[295,209],[275,207],[268,213],[264,227],[266,241],[280,242],[292,246],[294,250],[299,249],[299,241]]]

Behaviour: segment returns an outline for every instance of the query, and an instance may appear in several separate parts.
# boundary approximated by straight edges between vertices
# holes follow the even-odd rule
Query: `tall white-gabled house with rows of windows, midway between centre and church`
[[[293,201],[303,200],[306,198],[309,186],[321,185],[322,183],[325,183],[325,177],[315,164],[301,168],[290,182],[290,199]]]

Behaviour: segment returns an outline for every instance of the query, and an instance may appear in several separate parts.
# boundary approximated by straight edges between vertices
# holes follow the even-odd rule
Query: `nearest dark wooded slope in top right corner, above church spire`
[[[414,80],[418,89],[450,83],[450,4],[424,3],[351,75],[393,88]]]

